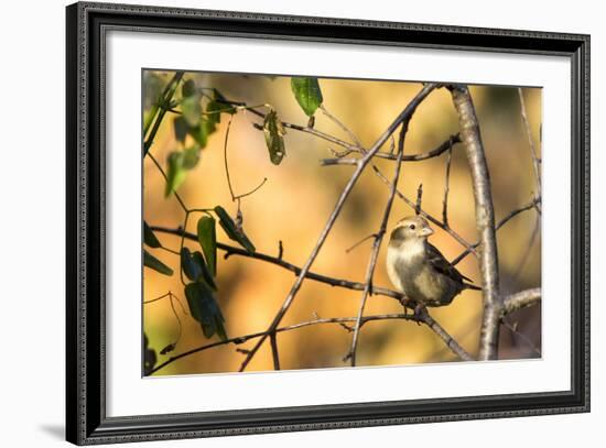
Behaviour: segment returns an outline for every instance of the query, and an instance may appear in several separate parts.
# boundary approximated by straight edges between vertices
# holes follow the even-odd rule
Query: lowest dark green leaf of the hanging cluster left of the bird
[[[199,323],[204,336],[212,338],[217,334],[219,338],[226,340],[225,318],[210,288],[202,282],[190,283],[185,286],[185,297],[190,313]]]

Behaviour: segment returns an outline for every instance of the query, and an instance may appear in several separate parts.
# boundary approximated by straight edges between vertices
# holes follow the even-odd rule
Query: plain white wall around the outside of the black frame
[[[145,1],[167,4],[167,1]],[[604,103],[606,31],[599,2],[519,1],[494,3],[472,0],[426,2],[274,2],[271,0],[180,0],[172,6],[230,9],[285,14],[347,17],[402,22],[496,26],[592,34],[592,172],[605,166]],[[58,446],[64,419],[64,0],[8,2],[2,8],[0,52],[0,397],[3,446]],[[31,123],[36,123],[36,128]],[[40,124],[39,124],[40,122]],[[594,176],[593,253],[606,250],[598,233],[604,228],[600,195],[605,176]],[[597,328],[604,312],[604,263],[593,258],[592,287],[593,412],[584,415],[527,417],[500,420],[376,427],[294,433],[205,440],[206,446],[368,446],[397,442],[411,446],[511,447],[531,442],[571,446],[603,434],[606,418],[603,340]],[[7,288],[8,285],[8,288]],[[23,332],[22,329],[28,329]],[[29,347],[25,353],[23,347]],[[199,446],[173,441],[163,446]],[[152,446],[138,444],[137,446]],[[158,444],[155,444],[158,445]],[[598,446],[599,442],[588,442]],[[158,445],[160,446],[160,445]]]

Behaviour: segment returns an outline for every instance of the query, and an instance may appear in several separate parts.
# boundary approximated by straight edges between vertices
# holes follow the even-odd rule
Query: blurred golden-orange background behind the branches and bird
[[[145,72],[144,98],[153,98],[174,73]],[[230,100],[248,105],[270,103],[281,120],[305,125],[307,118],[295,101],[289,77],[261,75],[186,73],[184,79],[194,79],[197,86],[218,89]],[[350,79],[320,79],[326,109],[346,123],[365,145],[370,145],[391,123],[393,118],[422,87],[420,83],[376,81]],[[535,192],[534,174],[528,135],[520,113],[520,98],[516,87],[470,86],[487,152],[497,221],[512,209],[528,204]],[[531,135],[541,151],[541,89],[522,89]],[[151,106],[144,101],[143,112]],[[348,135],[316,112],[315,128],[347,140]],[[151,152],[164,164],[171,151],[180,147],[167,113],[156,134]],[[224,168],[224,141],[227,127],[225,118],[210,135],[203,150],[202,160],[188,173],[178,194],[188,207],[206,208],[224,206],[232,216],[236,204],[231,201]],[[242,199],[244,228],[257,247],[257,251],[277,255],[278,242],[284,247],[284,260],[296,265],[306,261],[338,195],[347,183],[350,166],[321,166],[322,159],[332,157],[331,150],[342,150],[313,135],[286,130],[286,156],[280,165],[269,160],[263,132],[252,123],[260,119],[249,112],[234,116],[229,134],[229,171],[236,194],[257,186],[264,177],[261,189]],[[434,149],[458,131],[450,92],[439,89],[423,101],[414,114],[407,135],[405,154],[422,153]],[[388,146],[383,150],[388,150]],[[461,144],[453,147],[450,193],[450,223],[468,241],[476,241],[474,199],[469,171]],[[409,198],[416,195],[423,184],[423,209],[441,217],[444,192],[446,155],[423,162],[403,164],[399,189]],[[376,164],[388,178],[393,162],[377,160]],[[177,228],[183,222],[183,210],[174,196],[164,198],[164,179],[153,163],[143,160],[143,212],[148,223]],[[313,272],[364,282],[370,253],[370,241],[349,253],[346,249],[377,231],[389,189],[372,170],[366,170],[348,198],[340,217],[323,250],[312,266]],[[414,211],[396,198],[389,226]],[[196,219],[191,219],[187,230],[195,233]],[[464,249],[441,229],[431,242],[452,260]],[[229,241],[223,229],[217,228],[218,240]],[[180,238],[156,232],[162,243],[178,250]],[[197,243],[186,241],[192,250]],[[383,241],[375,273],[375,284],[392,287],[387,277]],[[151,250],[175,275],[164,276],[152,270],[143,270],[143,301],[150,301],[172,291],[185,305],[183,286],[178,280],[178,256],[162,250]],[[498,232],[498,251],[502,293],[512,293],[541,284],[541,232],[538,214],[526,211],[509,221]],[[459,271],[480,284],[476,259],[467,256],[457,265]],[[230,256],[218,260],[217,299],[226,319],[230,337],[264,330],[295,276],[282,267],[262,261]],[[361,293],[331,287],[305,281],[282,325],[313,319],[316,316],[350,317],[358,310]],[[149,347],[155,350],[158,362],[171,354],[218,340],[207,340],[199,324],[176,312],[183,325],[182,336],[173,353],[159,351],[175,340],[178,323],[167,299],[143,306],[143,331]],[[401,313],[402,307],[392,298],[370,296],[366,315]],[[432,316],[468,352],[477,353],[481,296],[477,292],[464,292],[446,307],[431,308]],[[541,349],[541,307],[520,310],[508,317],[510,329],[501,327],[500,359],[539,357]],[[515,329],[516,331],[511,331]],[[289,369],[346,368],[343,361],[350,345],[351,334],[338,325],[317,325],[278,336],[281,367]],[[238,348],[251,348],[255,340]],[[425,326],[411,321],[383,320],[366,324],[360,331],[357,351],[358,365],[388,365],[424,362],[454,361],[456,357]],[[236,346],[226,345],[183,358],[154,373],[192,374],[237,371],[244,356]],[[250,363],[249,371],[272,370],[271,350],[267,342]]]

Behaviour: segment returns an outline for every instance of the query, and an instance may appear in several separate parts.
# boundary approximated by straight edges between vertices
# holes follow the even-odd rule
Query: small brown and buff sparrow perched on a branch
[[[481,289],[465,283],[470,280],[428,242],[432,233],[424,218],[404,218],[391,231],[387,250],[389,280],[416,304],[416,312],[423,306],[448,305],[464,289]]]

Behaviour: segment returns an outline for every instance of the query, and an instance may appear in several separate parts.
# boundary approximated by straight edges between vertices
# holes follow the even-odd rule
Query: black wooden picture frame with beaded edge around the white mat
[[[589,411],[589,36],[80,2],[66,9],[66,435],[78,445]],[[572,387],[252,411],[106,416],[104,46],[110,29],[560,55],[572,63]]]

